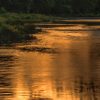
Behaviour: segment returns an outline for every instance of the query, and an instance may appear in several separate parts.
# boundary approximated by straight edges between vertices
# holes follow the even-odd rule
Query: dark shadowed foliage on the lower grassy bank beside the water
[[[32,39],[30,34],[27,34],[25,31],[26,27],[20,25],[1,24],[0,25],[0,44],[22,42],[29,39]],[[32,31],[31,31],[32,32]]]

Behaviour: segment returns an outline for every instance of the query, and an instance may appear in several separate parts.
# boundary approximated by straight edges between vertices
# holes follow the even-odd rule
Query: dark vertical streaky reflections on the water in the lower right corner
[[[75,81],[74,94],[80,97],[80,100],[84,100],[85,96],[88,96],[88,100],[99,100],[97,91],[100,90],[100,86],[96,85],[95,81],[85,82],[82,78]]]

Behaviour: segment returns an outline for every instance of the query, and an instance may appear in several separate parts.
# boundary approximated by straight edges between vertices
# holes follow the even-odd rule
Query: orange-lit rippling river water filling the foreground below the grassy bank
[[[100,26],[43,28],[35,36],[0,46],[0,100],[100,100]]]

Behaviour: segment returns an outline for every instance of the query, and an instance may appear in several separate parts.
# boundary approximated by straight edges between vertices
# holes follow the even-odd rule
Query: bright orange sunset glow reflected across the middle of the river
[[[81,29],[80,26],[77,26],[77,29],[78,28]],[[16,90],[16,98],[18,98],[18,100],[27,100],[28,98],[30,98],[30,91],[32,95],[31,97],[33,98],[41,97],[51,98],[53,100],[72,100],[73,98],[77,98],[78,100],[76,94],[73,94],[74,91],[71,90],[71,87],[69,85],[70,80],[66,81],[65,83],[59,84],[58,82],[57,84],[55,84],[55,82],[53,81],[56,79],[56,76],[54,75],[57,75],[59,81],[60,78],[63,78],[63,76],[64,78],[67,78],[67,76],[74,76],[75,73],[73,74],[73,72],[71,71],[71,66],[74,65],[70,61],[71,56],[69,54],[70,51],[68,50],[71,50],[76,47],[78,48],[76,48],[75,52],[77,52],[79,56],[82,56],[82,61],[84,63],[83,66],[87,65],[88,58],[86,59],[86,55],[89,49],[88,47],[86,47],[86,45],[89,45],[90,33],[86,31],[78,31],[75,34],[74,32],[70,31],[65,33],[65,31],[60,32],[59,29],[65,30],[66,28],[59,27],[58,30],[47,29],[48,35],[38,34],[38,38],[42,38],[43,40],[37,45],[32,45],[33,47],[45,46],[50,48],[56,48],[57,51],[60,52],[59,55],[54,56],[54,59],[56,60],[52,59],[52,54],[47,53],[42,54],[41,52],[26,52],[25,54],[23,54],[23,62],[21,61],[20,63],[21,66],[24,66],[25,69],[22,67],[23,74],[21,76],[23,79],[20,79],[22,81],[18,81],[19,85]],[[74,45],[73,43],[77,45]],[[81,52],[83,53],[81,54]],[[70,66],[66,66],[66,72],[64,71],[65,65]],[[29,66],[30,68],[28,68],[27,66]],[[59,72],[58,70],[58,73],[55,73],[55,70],[57,70],[55,69],[55,67],[58,67],[59,69],[60,66],[62,66],[62,69],[60,70],[62,72]],[[23,75],[26,77],[24,77]],[[36,78],[37,80],[35,80]],[[23,83],[23,81],[26,82]],[[26,84],[27,86],[22,86],[21,84]],[[59,90],[60,88],[62,88],[62,90]],[[23,94],[28,95],[23,96]]]

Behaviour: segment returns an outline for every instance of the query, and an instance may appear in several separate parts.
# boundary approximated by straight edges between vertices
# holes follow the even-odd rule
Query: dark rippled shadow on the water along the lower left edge
[[[13,61],[11,55],[0,55],[0,100],[7,100],[14,96]],[[2,99],[3,98],[3,99]]]

